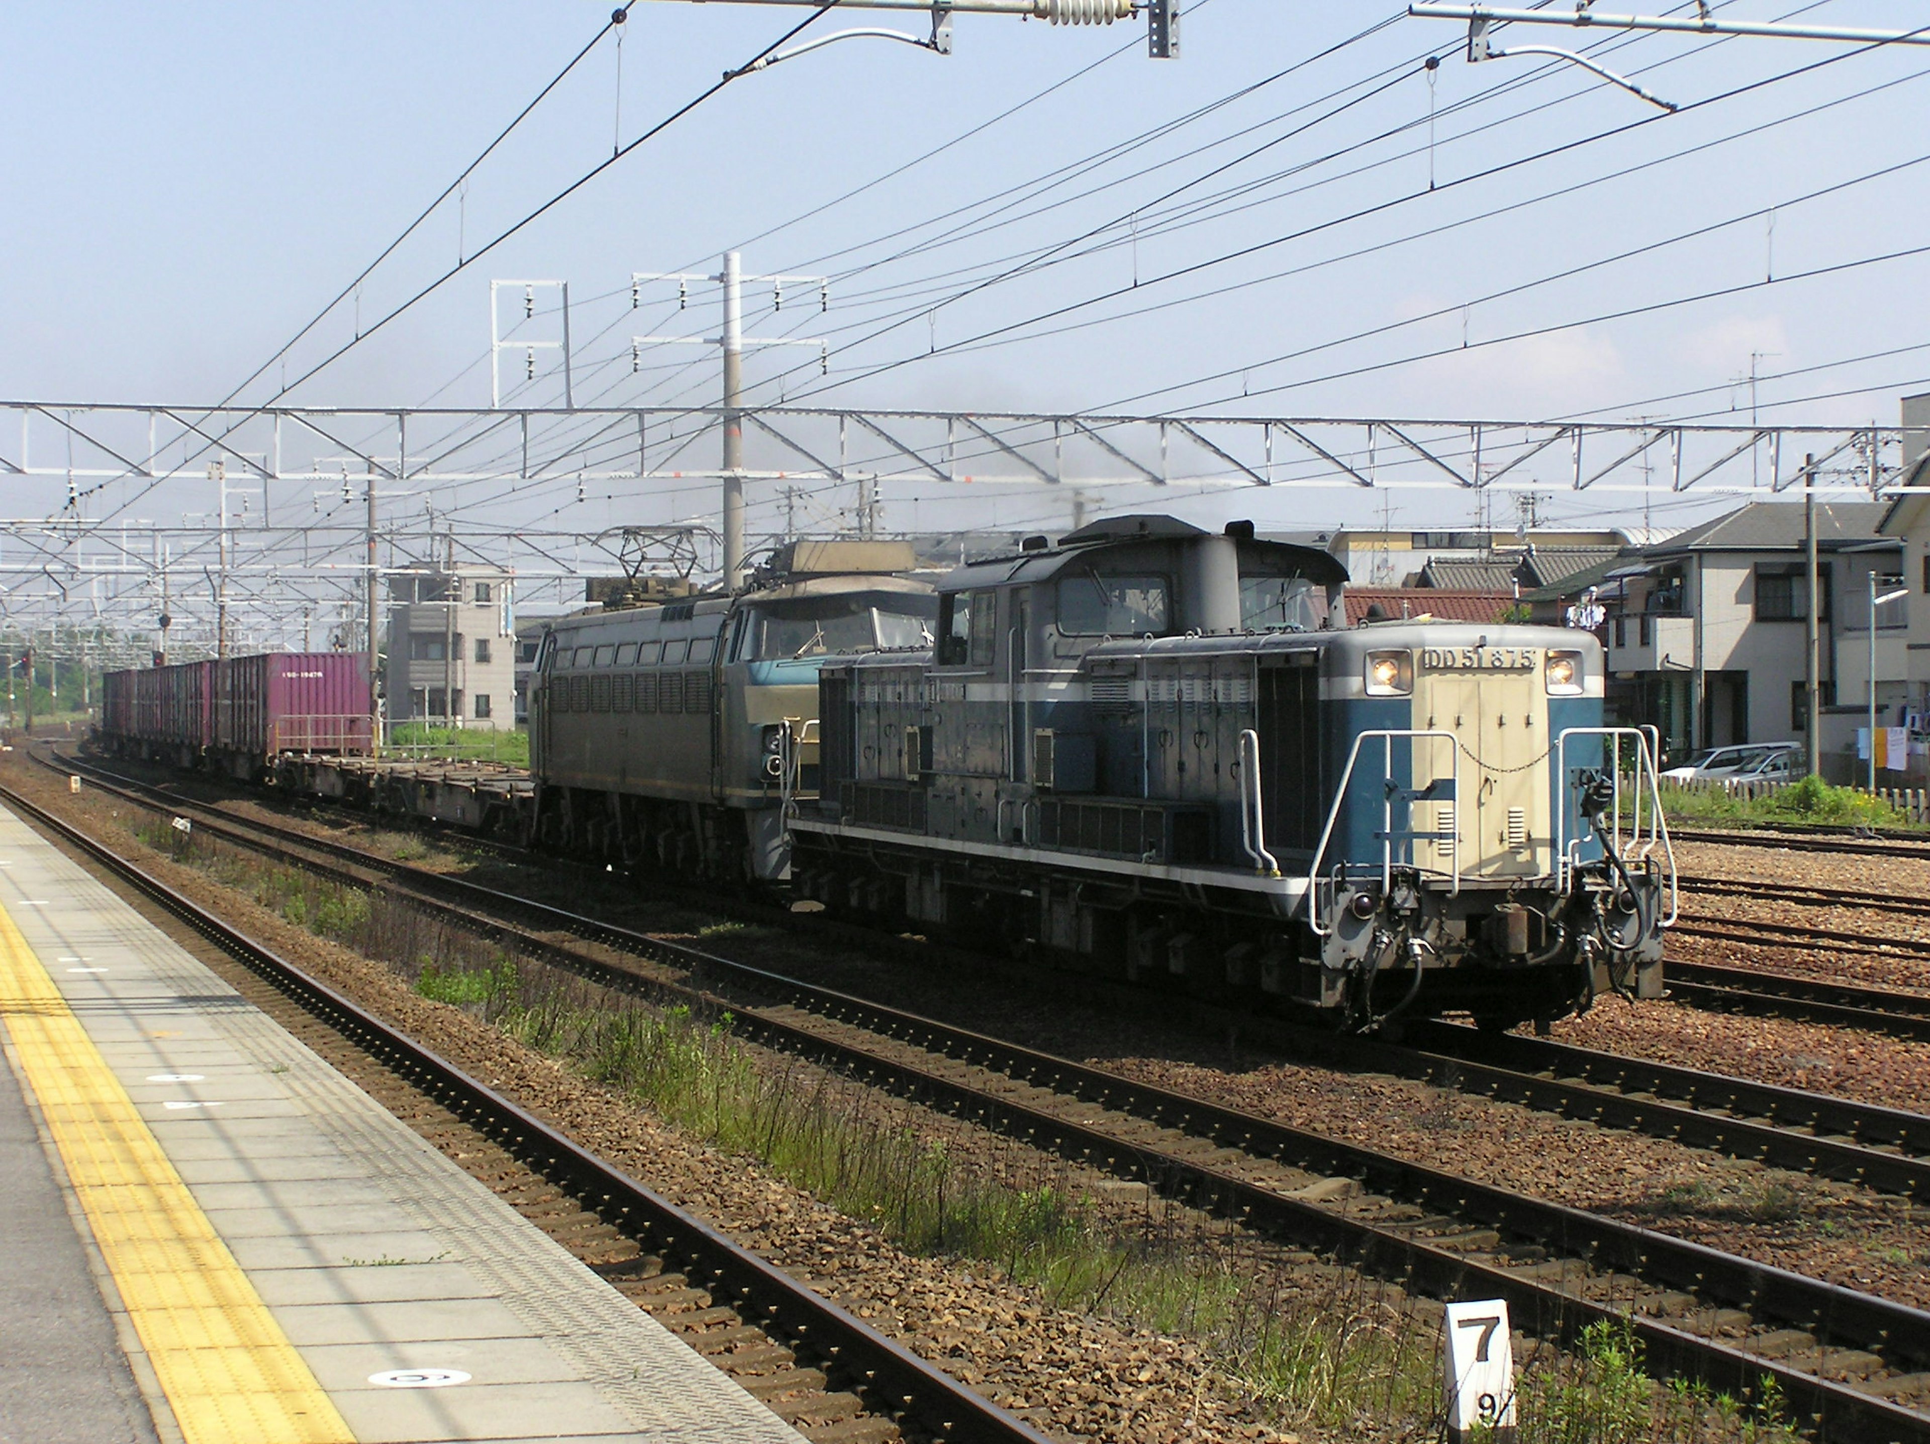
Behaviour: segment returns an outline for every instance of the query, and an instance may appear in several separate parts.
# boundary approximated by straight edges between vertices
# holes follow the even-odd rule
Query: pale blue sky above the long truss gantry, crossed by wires
[[[1723,12],[1837,25],[1920,19],[1901,0],[1733,0]],[[205,402],[230,392],[606,14],[486,2],[8,8],[0,396]],[[731,245],[745,245],[749,270],[836,276],[828,315],[795,299],[782,317],[753,313],[760,334],[828,334],[840,347],[830,378],[807,349],[755,357],[751,376],[768,400],[782,384],[789,400],[913,407],[1693,415],[1747,405],[1747,386],[1733,382],[1754,365],[1770,376],[1758,386],[1766,415],[1847,425],[1893,423],[1899,390],[1930,390],[1930,257],[1868,263],[1930,241],[1930,50],[1610,42],[1604,62],[1640,71],[1687,106],[1677,116],[1573,68],[1469,66],[1455,27],[1420,19],[1310,60],[1393,14],[1197,0],[1175,62],[1148,60],[1137,23],[959,17],[950,58],[876,41],[830,46],[728,87],[293,400],[486,403],[492,276],[571,282],[579,400],[706,400],[714,359],[658,349],[631,375],[629,338],[714,330],[710,299],[695,295],[695,313],[679,317],[658,288],[631,313],[629,274],[708,270]],[[363,322],[799,17],[778,6],[637,4],[621,83],[606,39],[461,203],[371,278]],[[872,12],[822,17],[813,33],[857,23],[917,27]],[[1556,31],[1532,39],[1577,42]],[[1419,66],[1428,52],[1444,60],[1432,83]],[[1795,73],[1803,68],[1812,69]],[[1243,87],[1258,89],[1237,97]],[[795,220],[1021,102],[1009,120]],[[1204,106],[1216,108],[986,226],[986,197]],[[1558,153],[1534,158],[1542,151]],[[1197,205],[1204,212],[1168,214]],[[967,234],[934,245],[932,218],[961,207]],[[1365,214],[1349,220],[1355,212]],[[1677,239],[1695,230],[1706,234]],[[1067,245],[1062,264],[930,311],[998,274],[1002,259],[1036,263],[1054,245]],[[1220,261],[1239,251],[1251,255]],[[1862,264],[1754,286],[1847,263]],[[1162,280],[1181,268],[1195,270]],[[1575,274],[1532,284],[1561,270]],[[1511,288],[1525,290],[1484,299]],[[1594,320],[1720,288],[1743,290]],[[1058,324],[1071,328],[1040,336],[1027,326],[1062,307],[1073,309]],[[355,315],[353,303],[338,309],[290,355],[290,375],[347,340]],[[994,344],[971,344],[986,332]],[[1349,340],[1359,332],[1378,334]],[[1515,332],[1538,334],[1490,344]],[[540,320],[529,334],[546,334]],[[1913,346],[1924,349],[1835,365]],[[525,400],[560,398],[546,363],[548,353]],[[1805,375],[1778,380],[1791,371]],[[245,396],[266,400],[278,375]],[[679,504],[689,508],[687,498],[664,506]],[[776,502],[757,504],[768,514]],[[1038,512],[1025,500],[1000,506],[1006,523]],[[1187,506],[1204,519],[1227,502]],[[1241,510],[1280,525],[1378,515],[1366,498],[1318,506],[1318,517],[1307,498],[1243,498]],[[1583,517],[1594,502],[1556,496],[1550,506],[1556,517]],[[888,508],[897,525],[957,519],[934,494],[888,498]],[[1471,512],[1463,496],[1397,500],[1403,525]],[[1698,514],[1673,504],[1658,519]]]

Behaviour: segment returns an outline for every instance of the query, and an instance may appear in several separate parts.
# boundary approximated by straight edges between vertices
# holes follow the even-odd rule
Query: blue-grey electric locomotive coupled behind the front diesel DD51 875
[[[826,656],[928,647],[903,542],[791,542],[731,597],[567,618],[529,693],[533,838],[726,880],[789,876],[784,803],[814,784]]]

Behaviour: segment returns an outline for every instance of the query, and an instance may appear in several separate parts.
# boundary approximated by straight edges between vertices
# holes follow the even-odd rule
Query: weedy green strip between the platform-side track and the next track
[[[1440,1305],[1256,1241],[1133,1183],[753,1048],[730,1014],[658,1008],[506,956],[396,898],[137,824],[176,861],[401,973],[508,1037],[569,1062],[666,1122],[890,1236],[907,1253],[1004,1274],[1056,1309],[1195,1340],[1289,1427],[1442,1432]],[[1662,1388],[1627,1328],[1569,1353],[1517,1346],[1523,1444],[1783,1444],[1779,1400]]]

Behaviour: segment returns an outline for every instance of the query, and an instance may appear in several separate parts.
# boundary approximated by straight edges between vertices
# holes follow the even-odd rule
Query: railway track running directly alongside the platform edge
[[[780,1415],[791,1417],[807,1438],[828,1430],[840,1440],[882,1442],[899,1438],[903,1427],[928,1440],[1046,1444],[1046,1436],[1031,1425],[735,1245],[695,1214],[579,1147],[83,830],[10,788],[0,788],[0,797],[259,973],[372,1060],[407,1079],[421,1095],[504,1149],[535,1178],[577,1201],[585,1214],[594,1214],[612,1234],[631,1237],[641,1249],[637,1266],[612,1282],[641,1307],[660,1301],[666,1326],[685,1336],[693,1347],[704,1351],[706,1334],[728,1340],[731,1349],[743,1349],[747,1336],[760,1336],[768,1346],[789,1353],[793,1363],[772,1371],[766,1357],[757,1376],[743,1382]],[[573,1232],[581,1236],[581,1228]],[[714,1361],[718,1353],[712,1351]],[[722,1361],[720,1367],[728,1371]]]

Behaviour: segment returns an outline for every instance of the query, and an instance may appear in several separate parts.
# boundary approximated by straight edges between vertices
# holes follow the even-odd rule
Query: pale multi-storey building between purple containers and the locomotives
[[[513,577],[455,568],[390,579],[382,685],[390,722],[515,726]]]

